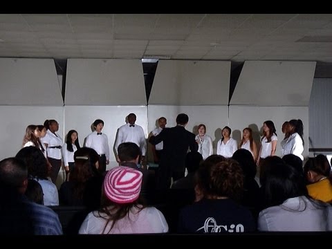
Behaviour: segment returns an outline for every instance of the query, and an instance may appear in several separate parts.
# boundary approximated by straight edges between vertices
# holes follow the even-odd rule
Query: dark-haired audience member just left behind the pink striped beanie
[[[98,159],[92,148],[75,151],[75,167],[59,190],[60,205],[84,205],[90,211],[100,207],[103,178],[98,170]]]

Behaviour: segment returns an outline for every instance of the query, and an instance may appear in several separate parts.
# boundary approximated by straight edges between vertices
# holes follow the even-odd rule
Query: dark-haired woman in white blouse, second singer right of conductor
[[[225,156],[225,158],[231,158],[235,151],[237,151],[237,141],[230,137],[232,129],[225,126],[221,131],[223,137],[218,141],[216,145],[216,154]]]

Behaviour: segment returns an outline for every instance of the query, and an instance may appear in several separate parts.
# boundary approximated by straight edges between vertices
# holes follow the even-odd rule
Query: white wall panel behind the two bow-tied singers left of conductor
[[[102,132],[109,138],[110,163],[107,169],[118,165],[114,154],[114,143],[116,133],[120,126],[125,124],[129,113],[136,114],[136,124],[140,125],[145,131],[147,138],[147,107],[146,106],[66,106],[64,107],[65,133],[75,129],[78,133],[80,145],[83,146],[84,138],[92,132],[91,125],[96,119],[104,121]]]

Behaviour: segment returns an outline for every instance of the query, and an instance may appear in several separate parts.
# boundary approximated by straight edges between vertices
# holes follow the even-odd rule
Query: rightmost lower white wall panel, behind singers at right
[[[253,131],[255,142],[260,145],[263,135],[263,123],[272,120],[277,130],[278,142],[276,155],[281,156],[280,142],[284,139],[282,124],[291,119],[301,119],[304,125],[304,153],[308,156],[308,107],[244,107],[230,106],[230,128],[232,136],[238,145],[242,138],[242,131],[250,127]]]

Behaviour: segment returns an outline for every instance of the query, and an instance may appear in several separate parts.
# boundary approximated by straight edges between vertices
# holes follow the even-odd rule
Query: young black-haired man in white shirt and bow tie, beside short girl
[[[101,173],[106,172],[106,165],[109,164],[109,140],[105,133],[102,133],[104,121],[98,119],[93,122],[95,131],[86,137],[85,147],[90,147],[97,151],[99,155],[99,170]]]

